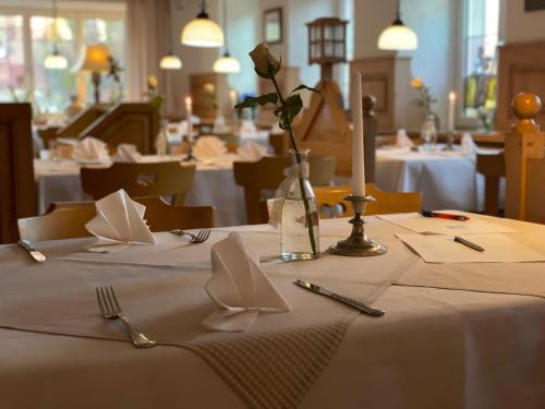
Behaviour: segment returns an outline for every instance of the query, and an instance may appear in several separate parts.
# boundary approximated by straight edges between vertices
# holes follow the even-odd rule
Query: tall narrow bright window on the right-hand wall
[[[499,1],[464,1],[462,118],[480,119],[485,127],[496,110]]]

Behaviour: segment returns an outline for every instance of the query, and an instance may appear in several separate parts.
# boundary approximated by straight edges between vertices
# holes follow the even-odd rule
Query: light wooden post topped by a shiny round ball
[[[518,122],[506,134],[506,216],[545,224],[545,132],[534,121],[541,100],[521,93],[511,108]]]

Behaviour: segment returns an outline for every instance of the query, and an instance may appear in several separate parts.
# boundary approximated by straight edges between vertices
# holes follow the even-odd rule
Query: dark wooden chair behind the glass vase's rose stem
[[[258,161],[235,161],[234,181],[244,188],[246,217],[250,225],[262,224],[268,217],[259,206],[263,190],[274,190],[286,178],[284,169],[290,166],[288,156],[266,156]],[[310,180],[313,185],[330,184],[335,176],[336,158],[311,155]]]

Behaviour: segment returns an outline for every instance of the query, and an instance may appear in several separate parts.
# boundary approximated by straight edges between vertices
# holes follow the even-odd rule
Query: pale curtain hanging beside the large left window
[[[170,111],[168,101],[170,86],[167,75],[159,69],[159,61],[167,53],[170,33],[170,0],[128,0],[126,2],[126,39],[129,82],[129,101],[142,101],[147,88],[146,79],[155,75],[159,82],[159,91],[167,101],[166,111]]]

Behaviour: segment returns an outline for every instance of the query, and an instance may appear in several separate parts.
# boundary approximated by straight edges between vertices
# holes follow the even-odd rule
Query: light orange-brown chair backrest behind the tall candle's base
[[[373,183],[365,184],[365,192],[376,199],[376,202],[367,202],[365,206],[367,216],[422,209],[422,193],[420,192],[385,192]],[[352,188],[344,185],[314,188],[320,218],[353,216],[352,205],[344,201],[344,196],[350,193],[352,193]]]

